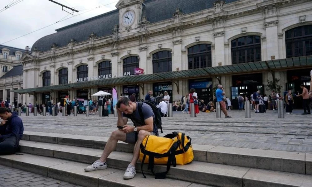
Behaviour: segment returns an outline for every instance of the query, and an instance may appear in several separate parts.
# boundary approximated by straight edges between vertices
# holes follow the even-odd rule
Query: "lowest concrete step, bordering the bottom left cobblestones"
[[[85,172],[83,169],[86,164],[80,162],[26,153],[23,153],[23,155],[0,156],[0,161],[3,165],[86,187],[204,187],[204,185],[182,180],[155,180],[151,175],[147,175],[147,178],[144,179],[140,173],[136,174],[131,180],[124,180],[124,170],[107,168],[105,170]]]

